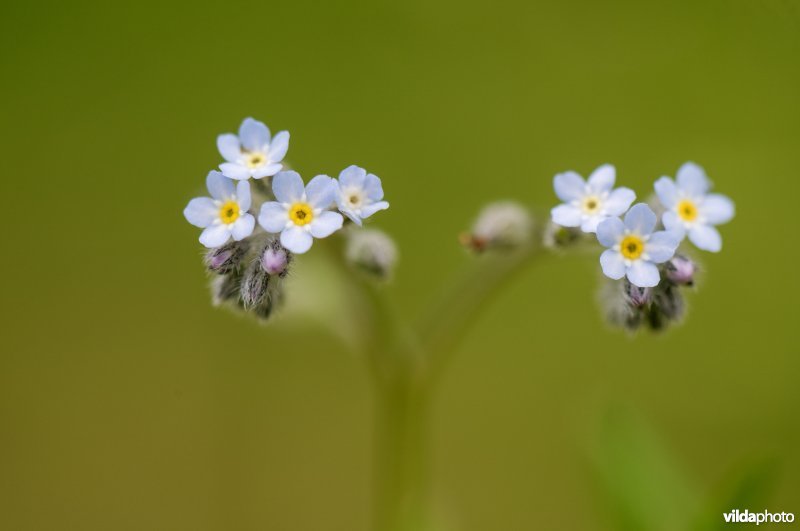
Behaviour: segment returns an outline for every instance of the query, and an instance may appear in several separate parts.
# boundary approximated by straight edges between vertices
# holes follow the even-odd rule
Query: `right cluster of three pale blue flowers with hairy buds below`
[[[606,300],[617,324],[635,329],[642,323],[660,329],[680,318],[680,286],[692,285],[697,265],[678,248],[688,237],[695,247],[718,252],[722,238],[716,229],[734,215],[733,202],[709,193],[703,169],[691,162],[680,167],[673,181],[655,182],[657,204],[631,204],[636,195],[614,188],[616,173],[608,164],[584,180],[575,172],[555,176],[553,186],[563,201],[551,211],[556,227],[594,234],[605,250],[600,266],[613,285]],[[661,212],[661,216],[656,214]],[[555,234],[556,232],[554,232]]]

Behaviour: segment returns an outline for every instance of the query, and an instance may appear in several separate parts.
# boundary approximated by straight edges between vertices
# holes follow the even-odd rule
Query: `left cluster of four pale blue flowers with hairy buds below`
[[[192,199],[183,211],[203,229],[205,263],[218,274],[212,282],[216,303],[269,316],[293,255],[340,231],[345,218],[360,227],[389,208],[381,180],[358,166],[345,168],[338,179],[317,175],[306,184],[284,168],[289,133],[273,137],[253,118],[242,122],[238,134],[219,135],[217,149],[225,162],[206,177],[209,197]]]

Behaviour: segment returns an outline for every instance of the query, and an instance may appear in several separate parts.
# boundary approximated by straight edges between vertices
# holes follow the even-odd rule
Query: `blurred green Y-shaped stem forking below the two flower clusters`
[[[414,329],[392,311],[380,286],[363,284],[372,310],[367,358],[376,393],[376,531],[434,529],[429,506],[429,422],[437,383],[469,328],[531,263],[537,250],[525,245],[479,257]]]

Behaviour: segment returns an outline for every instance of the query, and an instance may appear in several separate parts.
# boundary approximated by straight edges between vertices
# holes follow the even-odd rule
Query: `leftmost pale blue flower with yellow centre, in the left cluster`
[[[186,220],[205,229],[200,243],[208,248],[219,247],[233,237],[241,240],[253,233],[255,218],[250,208],[250,183],[236,184],[218,171],[209,172],[206,186],[211,197],[196,197],[183,211]]]

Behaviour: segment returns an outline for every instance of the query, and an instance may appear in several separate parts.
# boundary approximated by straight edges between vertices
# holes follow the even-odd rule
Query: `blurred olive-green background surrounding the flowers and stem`
[[[443,382],[435,503],[466,531],[800,513],[798,58],[790,0],[5,3],[0,528],[368,529],[362,360],[211,308],[181,215],[250,115],[304,176],[383,178],[408,316],[485,202],[705,166],[738,211],[686,323],[628,337],[596,257],[531,268]]]

